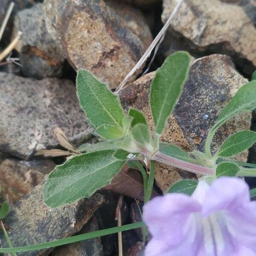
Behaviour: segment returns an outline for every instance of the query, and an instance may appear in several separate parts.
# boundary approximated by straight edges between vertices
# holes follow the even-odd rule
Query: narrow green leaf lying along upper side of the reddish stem
[[[193,161],[193,159],[189,157],[189,154],[186,151],[172,144],[160,143],[159,152],[186,162]]]

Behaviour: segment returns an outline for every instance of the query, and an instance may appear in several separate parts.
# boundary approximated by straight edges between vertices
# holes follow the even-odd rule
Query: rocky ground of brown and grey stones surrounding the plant
[[[0,185],[12,211],[13,246],[35,244],[140,221],[134,197],[143,201],[142,177],[125,167],[113,182],[72,205],[48,208],[42,201],[45,175],[64,157],[43,159],[40,149],[61,148],[56,127],[76,143],[93,139],[76,98],[79,68],[93,72],[114,90],[137,63],[172,13],[177,0],[13,0],[15,7],[0,41],[0,52],[23,33],[12,55],[0,60]],[[10,0],[0,0],[0,23]],[[256,69],[256,0],[185,0],[171,22],[149,73],[141,70],[120,92],[123,107],[145,113],[152,127],[148,93],[154,70],[177,50],[195,59],[182,96],[162,140],[202,149],[208,129]],[[152,56],[151,56],[152,57]],[[14,59],[17,59],[17,63]],[[234,131],[255,129],[256,115],[242,114],[221,127],[213,150]],[[186,149],[186,147],[185,147]],[[249,152],[256,161],[256,149]],[[246,161],[248,152],[239,156]],[[159,165],[153,196],[187,173]],[[251,181],[255,186],[255,182]],[[122,233],[125,256],[142,256],[141,230]],[[3,234],[0,244],[6,247]],[[117,236],[82,241],[26,256],[116,256]]]

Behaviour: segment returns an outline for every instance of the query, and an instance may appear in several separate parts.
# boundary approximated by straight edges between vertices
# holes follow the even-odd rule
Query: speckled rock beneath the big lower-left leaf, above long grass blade
[[[90,220],[93,212],[103,203],[102,195],[81,199],[56,209],[47,207],[43,201],[43,183],[18,201],[5,218],[5,224],[12,228],[9,238],[13,247],[37,244],[72,236]],[[0,233],[2,247],[8,247],[3,233]],[[52,248],[19,253],[20,256],[46,256]]]

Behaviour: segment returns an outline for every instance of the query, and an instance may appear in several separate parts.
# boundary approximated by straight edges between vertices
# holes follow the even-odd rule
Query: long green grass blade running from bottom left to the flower
[[[59,239],[59,240],[55,240],[55,241],[49,241],[49,242],[41,243],[41,244],[13,247],[13,248],[0,248],[0,253],[19,253],[19,252],[28,252],[28,251],[32,251],[32,250],[48,249],[51,247],[56,247],[56,246],[60,246],[60,245],[64,245],[64,244],[71,244],[74,242],[79,242],[79,241],[83,241],[83,240],[87,240],[87,239],[96,238],[99,236],[106,236],[106,235],[118,233],[121,231],[132,230],[132,229],[135,229],[138,227],[145,227],[145,224],[141,221],[141,222],[137,222],[137,223],[123,225],[120,227],[111,227],[111,228],[107,228],[105,230],[98,230],[98,231],[94,231],[94,232],[90,232],[90,233],[86,233],[86,234],[71,236],[71,237],[67,237],[67,238],[63,238],[63,239]]]

